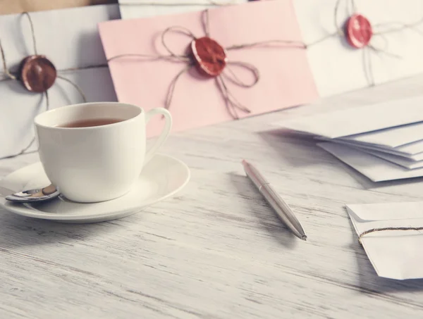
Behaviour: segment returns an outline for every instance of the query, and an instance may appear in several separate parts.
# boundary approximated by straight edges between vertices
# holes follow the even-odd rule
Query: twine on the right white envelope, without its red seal
[[[333,10],[333,20],[336,27],[336,32],[333,32],[329,35],[326,35],[325,37],[322,37],[321,39],[318,39],[315,42],[312,42],[310,44],[307,44],[307,47],[314,46],[316,44],[319,44],[320,42],[324,42],[326,39],[329,39],[331,37],[341,37],[345,38],[347,37],[347,32],[345,31],[345,27],[338,25],[338,12],[339,8],[341,6],[341,2],[346,1],[346,10],[347,10],[347,16],[352,17],[355,13],[357,13],[357,5],[355,4],[355,0],[338,0],[336,1],[335,8]],[[363,58],[363,70],[364,75],[366,76],[367,83],[369,86],[374,86],[374,73],[373,73],[373,67],[372,67],[372,59],[371,59],[371,52],[375,52],[376,54],[385,54],[386,56],[390,56],[391,58],[401,58],[400,56],[396,54],[392,54],[387,51],[388,49],[388,39],[386,39],[385,35],[393,32],[400,32],[405,29],[414,30],[419,35],[423,36],[423,32],[417,28],[417,25],[423,23],[423,18],[420,20],[417,20],[415,23],[401,23],[401,22],[390,22],[390,23],[379,23],[376,25],[372,25],[372,38],[374,36],[380,37],[384,43],[385,48],[376,48],[376,46],[372,45],[371,43],[366,44],[364,47],[359,48],[362,49],[362,58]],[[383,31],[384,27],[393,26],[393,28]],[[397,27],[395,27],[397,26]]]

